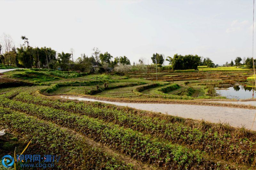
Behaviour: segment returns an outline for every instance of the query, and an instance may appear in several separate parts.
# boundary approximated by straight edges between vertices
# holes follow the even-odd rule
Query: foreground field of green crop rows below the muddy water
[[[246,169],[256,166],[254,132],[109,104],[60,101],[35,93],[43,88],[5,91],[0,96],[3,115],[0,124],[23,144],[34,136],[27,153],[49,151],[63,156],[59,167]],[[24,138],[26,134],[30,135]],[[49,135],[51,140],[42,138]],[[58,147],[50,147],[57,142]],[[79,165],[77,161],[73,164],[74,156]]]

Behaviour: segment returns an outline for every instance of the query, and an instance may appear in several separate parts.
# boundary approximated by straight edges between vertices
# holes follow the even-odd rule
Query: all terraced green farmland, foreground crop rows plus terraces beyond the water
[[[22,73],[13,71],[2,78],[14,79],[17,72]],[[173,83],[106,74],[41,83],[36,82],[40,77],[17,78],[32,84],[0,88],[0,129],[6,130],[0,144],[8,146],[0,146],[0,152],[13,154],[16,147],[20,153],[32,139],[25,153],[60,155],[58,169],[255,169],[256,132],[243,126],[55,97],[198,103],[200,97],[218,98],[207,95],[209,85],[238,83],[238,75],[232,75],[228,80]],[[248,75],[239,76],[244,80]]]

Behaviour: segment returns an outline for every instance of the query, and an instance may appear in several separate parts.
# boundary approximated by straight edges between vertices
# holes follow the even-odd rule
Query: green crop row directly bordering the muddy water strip
[[[182,121],[180,122],[181,118],[168,116],[162,119],[157,116],[142,116],[136,114],[134,110],[127,112],[127,110],[116,110],[116,108],[109,109],[109,105],[104,104],[63,102],[42,99],[24,93],[16,96],[15,100],[100,118],[133,130],[139,130],[143,133],[154,134],[158,137],[171,140],[174,143],[186,144],[193,149],[199,149],[209,153],[214,151],[215,153],[221,154],[227,160],[232,159],[234,162],[246,162],[250,165],[255,165],[254,157],[256,155],[256,148],[254,142],[250,142],[249,139],[236,138],[236,136],[227,131],[216,131],[212,128],[201,130],[191,123],[191,126],[187,126]],[[222,153],[223,148],[227,152]],[[239,150],[244,150],[244,152],[239,152]]]

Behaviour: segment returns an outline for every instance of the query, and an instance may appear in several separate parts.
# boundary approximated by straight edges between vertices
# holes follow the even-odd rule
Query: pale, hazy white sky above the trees
[[[20,0],[0,1],[0,9],[0,35],[11,35],[16,47],[26,36],[33,47],[73,48],[75,59],[93,47],[146,64],[153,53],[197,54],[219,65],[252,57],[253,0]]]

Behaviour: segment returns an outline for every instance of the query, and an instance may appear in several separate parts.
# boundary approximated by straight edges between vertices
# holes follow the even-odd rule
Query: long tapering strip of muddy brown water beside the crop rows
[[[225,123],[228,122],[231,126],[241,127],[241,124],[245,125],[247,129],[252,126],[252,121],[256,110],[251,109],[240,109],[240,108],[229,108],[220,106],[201,106],[201,105],[190,105],[190,104],[162,104],[162,103],[120,103],[120,102],[109,102],[95,99],[89,99],[84,97],[74,96],[57,96],[60,98],[80,101],[92,101],[115,104],[118,106],[128,106],[140,110],[148,110],[154,112],[161,112],[163,114],[192,118],[198,120],[206,120],[213,123],[219,123],[220,121]],[[252,130],[256,130],[256,123]]]

